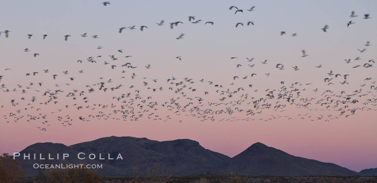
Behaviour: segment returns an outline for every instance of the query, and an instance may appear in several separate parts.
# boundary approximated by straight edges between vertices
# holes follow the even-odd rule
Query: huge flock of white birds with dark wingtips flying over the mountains
[[[111,5],[111,2],[103,2],[104,6]],[[247,11],[254,11],[255,6],[252,6]],[[244,10],[239,9],[236,6],[230,6],[229,10],[235,10],[236,13],[243,13]],[[349,17],[357,17],[352,11]],[[195,16],[189,16],[188,21],[191,23],[201,23],[202,20],[196,20]],[[369,19],[369,14],[364,15],[364,19]],[[156,23],[157,26],[164,25],[164,20]],[[170,28],[174,28],[179,24],[184,24],[181,21],[170,23]],[[213,21],[206,21],[204,25],[211,24],[214,25]],[[347,27],[351,24],[355,24],[349,21],[346,25]],[[248,21],[247,26],[254,26],[253,21]],[[244,26],[244,23],[236,23],[236,27]],[[147,29],[147,26],[140,26],[140,31]],[[325,25],[322,29],[324,32],[328,32],[330,27]],[[135,29],[132,27],[121,27],[119,28],[119,33],[122,33],[124,29]],[[320,31],[319,30],[319,31]],[[8,38],[11,33],[9,30],[0,32],[5,34]],[[286,31],[280,31],[280,35],[286,34]],[[34,34],[26,34],[28,39],[32,39]],[[185,34],[180,34],[176,37],[177,40],[184,38]],[[48,35],[41,35],[42,39],[47,39]],[[64,35],[64,40],[68,41],[71,35]],[[87,33],[81,34],[81,37],[87,37]],[[291,36],[298,36],[297,33],[291,34]],[[98,35],[91,36],[92,38],[100,38]],[[371,46],[370,42],[367,41],[364,46]],[[98,46],[97,49],[102,49]],[[366,51],[365,48],[358,49],[360,53]],[[29,48],[25,48],[24,52],[29,52]],[[123,49],[116,50],[118,53],[123,54]],[[39,56],[39,53],[34,53],[33,56]],[[301,57],[307,57],[305,50],[302,50]],[[129,59],[131,55],[125,55],[124,59]],[[174,56],[175,57],[175,56]],[[83,60],[75,61],[75,64],[98,64],[97,58],[101,58],[101,55],[90,56]],[[175,57],[178,60],[182,60],[181,56]],[[20,84],[15,86],[9,86],[4,84],[7,81],[6,72],[12,72],[11,68],[6,68],[3,70],[4,75],[0,75],[0,88],[3,92],[19,92],[19,98],[9,99],[5,94],[0,96],[0,107],[9,108],[12,110],[9,114],[2,114],[6,123],[24,121],[37,121],[37,129],[41,131],[46,131],[48,126],[57,125],[55,120],[59,121],[61,126],[71,126],[74,125],[75,120],[79,121],[90,121],[90,120],[118,120],[118,121],[139,121],[139,120],[151,120],[151,121],[168,121],[178,118],[177,122],[181,123],[181,116],[188,116],[197,118],[200,121],[251,121],[251,120],[263,120],[269,121],[276,118],[285,118],[286,120],[292,120],[297,117],[299,119],[308,119],[310,121],[330,121],[338,119],[341,116],[348,117],[350,115],[356,114],[357,111],[376,111],[377,98],[374,92],[377,91],[377,84],[374,78],[365,78],[363,82],[366,82],[360,87],[368,87],[365,90],[359,89],[355,91],[342,91],[340,93],[335,93],[331,90],[320,91],[318,89],[309,90],[306,87],[312,85],[311,83],[299,83],[293,82],[286,86],[285,81],[280,81],[279,86],[274,89],[263,89],[264,97],[255,98],[251,92],[259,92],[254,84],[248,84],[247,86],[234,86],[235,83],[224,84],[224,83],[214,83],[213,81],[207,81],[205,79],[193,80],[192,78],[185,77],[178,79],[175,77],[165,78],[165,82],[160,79],[153,78],[152,80],[146,77],[139,77],[135,71],[139,66],[133,65],[131,62],[124,62],[121,65],[111,64],[111,61],[118,60],[115,54],[110,54],[110,61],[104,61],[104,66],[110,66],[111,69],[119,73],[125,73],[124,69],[132,72],[129,80],[138,81],[141,78],[141,87],[136,88],[134,85],[124,86],[126,83],[126,77],[121,76],[120,78],[124,80],[124,83],[113,84],[111,78],[105,79],[103,77],[98,78],[98,81],[94,81],[91,84],[83,84],[81,88],[75,88],[71,91],[64,91],[60,89],[60,84],[55,84],[55,86],[47,86],[48,88],[53,87],[54,89],[46,89],[42,82],[33,81],[27,86],[22,86]],[[230,57],[230,59],[237,60],[238,57]],[[246,58],[249,67],[254,67],[254,58]],[[355,58],[353,61],[361,60],[360,57]],[[351,59],[345,59],[345,63],[352,63]],[[252,64],[253,63],[253,64]],[[365,69],[371,69],[374,65],[374,60],[368,60],[363,65],[356,65],[353,68],[363,67]],[[73,63],[72,63],[73,64]],[[261,62],[261,64],[268,64],[267,60]],[[145,69],[151,69],[151,65],[144,66]],[[242,67],[242,64],[237,64],[236,68]],[[124,69],[120,69],[124,68]],[[286,69],[283,63],[278,63],[274,68],[283,70]],[[298,71],[298,66],[292,66],[293,71]],[[316,68],[322,68],[322,65],[316,66]],[[122,70],[122,71],[120,71]],[[49,69],[43,71],[34,71],[30,73],[25,73],[26,79],[32,80],[33,76],[44,74],[46,77],[51,77],[54,81],[58,77],[65,77],[69,82],[75,82],[75,77],[69,77],[69,71],[63,71],[62,74],[54,73],[49,74]],[[321,72],[321,71],[319,71]],[[78,73],[84,73],[83,70],[78,71]],[[259,73],[252,73],[250,77],[254,77]],[[327,85],[335,85],[339,83],[340,85],[349,84],[347,77],[349,74],[335,74],[333,71],[329,71],[324,74],[324,82]],[[265,76],[270,76],[270,73],[265,73]],[[231,76],[233,80],[245,80],[249,77],[246,75],[241,76]],[[26,80],[25,79],[25,80]],[[127,81],[128,82],[128,81]],[[196,85],[198,83],[207,83],[208,91],[199,91]],[[65,84],[70,86],[69,83]],[[14,88],[14,89],[12,89]],[[145,91],[150,90],[152,92],[169,92],[172,93],[169,99],[155,99],[155,97],[144,95],[147,93]],[[305,96],[306,91],[319,92],[320,94],[314,97]],[[112,92],[121,91],[121,95],[114,96]],[[124,92],[123,92],[124,91]],[[103,93],[100,93],[103,92]],[[105,93],[106,92],[106,93]],[[32,93],[32,97],[24,97],[25,93]],[[93,94],[94,93],[94,94]],[[204,96],[211,95],[217,97],[216,101],[210,101]],[[100,104],[95,100],[96,96],[107,96],[109,99],[108,104]],[[311,95],[311,94],[308,94]],[[60,100],[72,100],[71,105],[59,105]],[[161,101],[164,100],[164,101]],[[28,101],[28,102],[23,102]],[[23,104],[25,103],[25,105]],[[358,104],[364,105],[359,107]],[[43,107],[48,105],[49,107]],[[52,107],[50,107],[53,105]],[[44,112],[47,109],[56,109],[54,112]],[[80,111],[77,117],[72,117],[70,114],[65,113],[68,108],[75,108]],[[297,114],[297,116],[284,115],[285,111],[295,110],[300,108],[301,110],[307,110],[306,114]],[[83,112],[83,110],[85,112]],[[3,110],[2,110],[3,111]],[[161,111],[161,112],[160,112]],[[264,112],[267,111],[267,112]],[[273,112],[274,111],[274,112]],[[333,114],[318,114],[313,116],[310,111],[318,111],[319,113],[324,113],[325,111],[336,111],[339,115]],[[271,117],[258,118],[257,116],[264,113],[271,113]],[[81,115],[88,113],[89,115]],[[162,114],[161,114],[162,113]],[[170,115],[166,115],[170,114]],[[181,115],[181,116],[180,116]],[[55,118],[54,118],[55,117]],[[174,117],[174,118],[173,118]],[[173,118],[173,119],[172,119]]]

